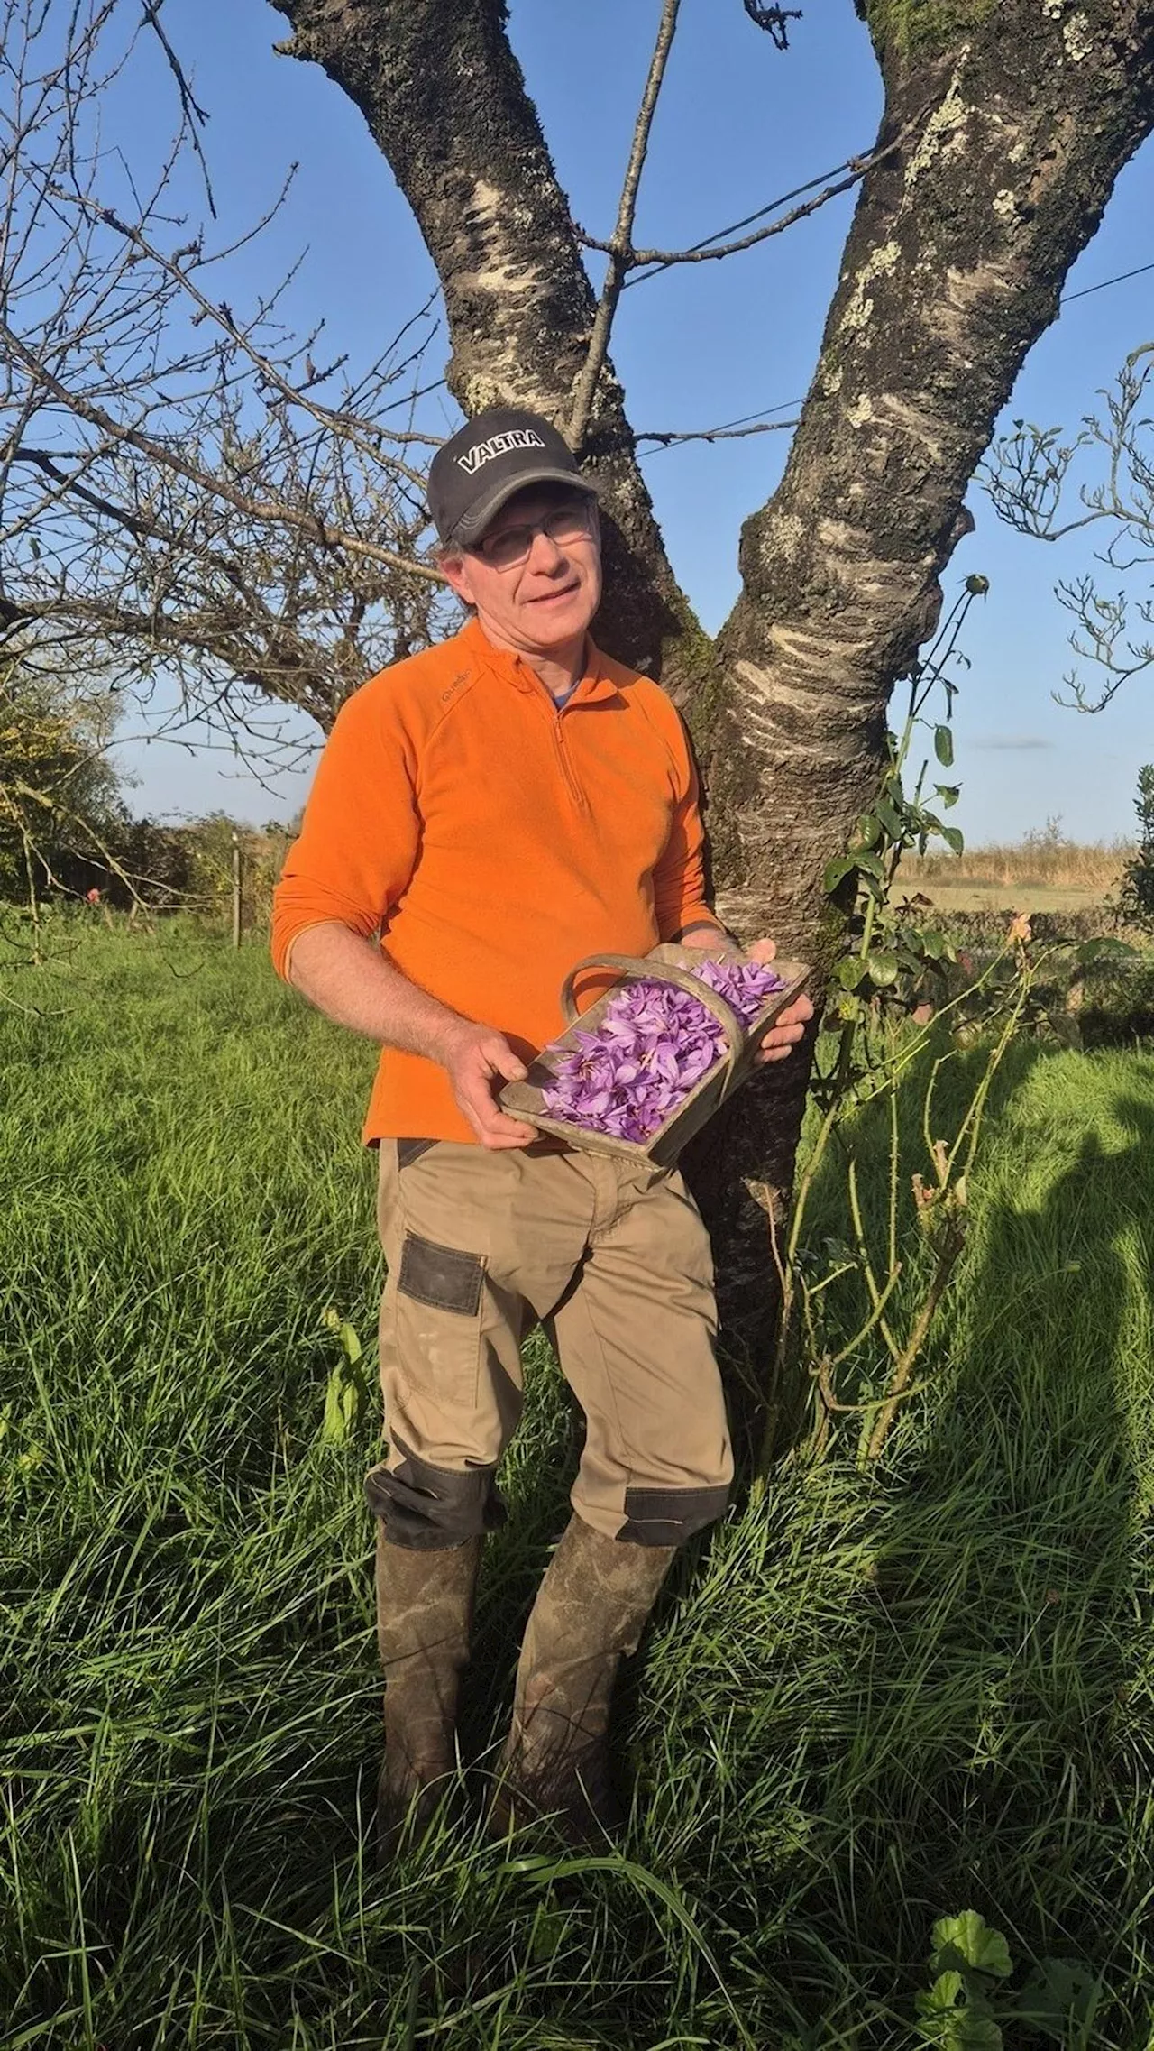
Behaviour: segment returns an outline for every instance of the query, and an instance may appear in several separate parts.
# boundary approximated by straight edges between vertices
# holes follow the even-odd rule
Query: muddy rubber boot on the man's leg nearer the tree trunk
[[[613,1791],[609,1711],[676,1546],[621,1544],[572,1518],[525,1628],[512,1729],[490,1827],[551,1817],[566,1844],[605,1844],[625,1817]]]

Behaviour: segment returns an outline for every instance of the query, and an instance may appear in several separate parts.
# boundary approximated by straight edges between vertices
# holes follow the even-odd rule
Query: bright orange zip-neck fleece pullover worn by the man
[[[588,642],[558,712],[469,621],[342,706],[273,904],[273,962],[338,919],[529,1060],[586,954],[646,954],[705,902],[697,775],[664,691]],[[596,995],[596,989],[590,997]],[[435,1060],[383,1048],[365,1138],[473,1140]]]

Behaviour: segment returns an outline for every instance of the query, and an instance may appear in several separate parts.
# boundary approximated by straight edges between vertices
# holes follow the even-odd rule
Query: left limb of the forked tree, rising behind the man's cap
[[[531,406],[564,433],[594,295],[502,0],[273,6],[293,25],[281,47],[324,66],[361,109],[416,215],[445,293],[453,398],[465,414]],[[580,453],[605,486],[599,638],[635,669],[685,683],[705,638],[668,566],[611,363]]]

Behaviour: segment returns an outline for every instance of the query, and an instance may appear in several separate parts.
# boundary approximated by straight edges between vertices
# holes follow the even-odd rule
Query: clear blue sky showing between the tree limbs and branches
[[[301,326],[326,320],[330,343],[369,359],[435,277],[391,172],[361,117],[316,66],[273,53],[285,21],[264,0],[168,0],[166,25],[209,109],[205,150],[221,226],[246,226],[291,162],[293,195],[246,258],[252,291],[303,254],[293,287]],[[578,222],[607,234],[617,207],[656,0],[512,0],[510,35]],[[740,0],[683,0],[654,139],[637,240],[687,246],[806,178],[865,150],[881,105],[867,35],[851,0],[808,0],[787,55]],[[148,148],[170,115],[160,76],[135,74],[111,109],[107,139]],[[1070,291],[1154,260],[1154,154],[1131,162]],[[851,201],[724,265],[687,265],[623,295],[613,355],[629,416],[644,429],[695,429],[799,400],[836,281]],[[1076,425],[1121,359],[1154,330],[1154,271],[1072,301],[1033,351],[1008,414]],[[426,402],[430,431],[457,423],[447,394]],[[674,568],[715,628],[736,591],[740,521],[773,490],[787,435],[652,451],[646,476]],[[1150,683],[1136,681],[1097,718],[1054,703],[1070,667],[1068,619],[1054,580],[1088,566],[1090,541],[1025,541],[972,490],[978,529],[947,572],[947,597],[972,570],[990,595],[972,615],[972,669],[957,706],[957,820],[972,841],[1017,839],[1060,816],[1078,839],[1131,825],[1138,765],[1154,757]],[[219,755],[154,745],[123,751],[133,806],[197,814],[211,806],[289,816],[307,775],[275,794],[230,773]]]

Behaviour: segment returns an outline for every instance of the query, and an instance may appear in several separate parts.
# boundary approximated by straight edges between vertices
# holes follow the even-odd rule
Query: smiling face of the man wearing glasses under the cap
[[[529,484],[471,548],[445,550],[441,568],[498,646],[523,654],[572,646],[601,603],[596,502],[588,492]]]

